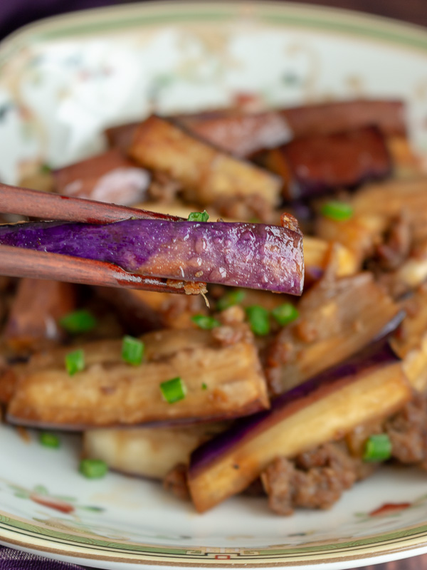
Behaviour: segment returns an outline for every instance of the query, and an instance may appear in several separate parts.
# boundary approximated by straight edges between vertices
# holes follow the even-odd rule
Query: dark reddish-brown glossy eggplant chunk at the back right
[[[391,174],[389,151],[376,127],[297,138],[268,150],[261,162],[282,177],[289,200],[352,189]]]

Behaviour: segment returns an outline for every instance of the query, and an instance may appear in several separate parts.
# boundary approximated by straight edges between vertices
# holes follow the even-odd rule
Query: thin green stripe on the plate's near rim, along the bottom
[[[66,544],[72,546],[74,545],[84,545],[96,548],[97,546],[107,549],[107,551],[117,552],[133,552],[135,554],[166,554],[172,555],[179,559],[194,559],[197,556],[191,556],[187,554],[187,551],[204,551],[204,547],[201,546],[186,546],[184,548],[177,548],[176,546],[151,546],[149,544],[135,544],[129,542],[118,542],[114,540],[98,539],[94,535],[90,536],[80,536],[73,533],[65,533],[60,530],[51,529],[47,526],[41,526],[38,524],[33,524],[25,522],[22,520],[14,519],[6,514],[0,514],[0,526],[8,530],[22,530],[34,534],[36,537],[47,537],[51,539],[58,539],[65,542]],[[17,533],[23,535],[23,533]],[[416,535],[421,535],[417,537]],[[28,535],[27,535],[28,536]],[[361,548],[369,549],[369,546],[378,547],[380,544],[384,546],[393,545],[394,549],[399,548],[399,546],[404,546],[404,544],[397,544],[399,541],[404,541],[405,539],[412,539],[419,543],[421,546],[421,541],[426,544],[427,539],[427,524],[421,527],[415,527],[411,529],[401,529],[394,532],[389,532],[386,534],[380,534],[370,537],[365,537],[363,539],[352,540],[352,541],[342,541],[335,544],[316,544],[313,546],[295,546],[295,548],[277,548],[277,546],[272,546],[271,548],[246,548],[240,549],[241,561],[245,560],[245,552],[248,552],[248,558],[272,558],[276,556],[295,556],[297,554],[325,554],[329,552],[330,554],[335,551],[339,554],[344,552],[351,552]],[[209,549],[211,551],[211,549]],[[218,551],[220,548],[218,547]],[[258,554],[253,555],[253,551],[257,551]],[[251,553],[251,554],[250,554]],[[246,559],[247,560],[247,559]]]

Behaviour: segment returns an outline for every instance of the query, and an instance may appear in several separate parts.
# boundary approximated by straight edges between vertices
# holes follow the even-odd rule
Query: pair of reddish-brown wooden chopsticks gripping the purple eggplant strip
[[[38,192],[5,184],[0,184],[0,212],[45,220],[90,224],[107,224],[130,218],[165,219],[175,222],[182,220],[176,216],[157,214],[143,209]],[[5,245],[0,245],[0,275],[164,293],[189,292],[181,281],[128,273],[117,265],[103,261],[35,252]],[[197,292],[196,289],[194,292]]]

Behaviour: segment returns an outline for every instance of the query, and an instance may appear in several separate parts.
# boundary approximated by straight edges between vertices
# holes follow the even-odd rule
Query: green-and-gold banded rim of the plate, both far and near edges
[[[118,31],[127,26],[155,26],[157,24],[176,24],[177,22],[185,25],[195,21],[206,21],[208,16],[213,16],[214,14],[216,14],[217,19],[227,20],[233,18],[233,16],[247,14],[256,21],[263,21],[263,23],[271,25],[283,26],[284,21],[286,21],[286,24],[293,28],[316,28],[320,31],[334,31],[337,34],[346,33],[359,38],[369,36],[374,41],[388,43],[400,49],[408,48],[412,51],[421,51],[427,56],[427,29],[416,24],[402,23],[385,18],[384,16],[374,16],[326,6],[312,6],[310,4],[301,5],[292,2],[283,4],[280,1],[272,0],[232,0],[230,2],[216,2],[212,0],[204,3],[199,3],[196,0],[159,0],[155,2],[148,1],[144,4],[127,4],[75,11],[70,14],[51,16],[36,23],[28,24],[1,41],[0,71],[2,66],[9,63],[10,59],[16,53],[19,53],[21,49],[26,48],[26,46],[55,38],[72,38],[75,36],[77,29],[79,37],[83,34],[92,36],[94,33],[112,31],[113,29]],[[177,16],[179,16],[178,19]],[[83,33],[82,26],[84,28]],[[28,532],[20,532],[19,525],[28,527],[26,529]],[[31,530],[31,527],[33,530]],[[24,529],[21,528],[21,531]],[[53,547],[53,544],[55,544],[52,541],[53,536],[49,537],[49,534],[56,534],[58,538],[62,535],[62,541],[58,543],[60,547]],[[396,537],[386,539],[386,537],[396,534],[401,536],[397,539]],[[23,541],[23,536],[26,537],[26,541]],[[75,537],[77,536],[78,533],[75,533]],[[105,541],[102,541],[96,538],[96,540],[93,540],[93,543],[96,541],[98,544],[90,544],[90,539],[86,539],[85,544],[85,541],[77,541],[75,537],[72,540],[70,537],[73,537],[73,533],[65,534],[58,529],[46,532],[46,526],[21,523],[18,518],[9,517],[7,513],[0,512],[0,544],[27,549],[34,554],[50,554],[57,558],[58,555],[61,555],[66,556],[68,559],[71,558],[73,561],[80,559],[83,564],[85,562],[93,563],[93,561],[110,561],[117,564],[125,564],[127,568],[135,564],[139,568],[146,566],[147,569],[152,568],[152,566],[169,568],[179,566],[189,570],[202,566],[264,568],[300,565],[310,569],[318,567],[319,564],[325,564],[325,562],[327,562],[330,569],[344,569],[369,564],[369,562],[378,564],[381,561],[396,560],[427,552],[427,520],[424,525],[418,525],[413,528],[405,527],[399,531],[379,534],[377,537],[371,534],[365,539],[342,541],[342,543],[331,543],[329,541],[326,544],[325,541],[325,549],[323,551],[320,546],[294,547],[292,551],[295,554],[291,555],[289,560],[284,559],[282,553],[277,555],[280,556],[277,561],[262,561],[263,556],[259,555],[256,562],[251,562],[248,558],[233,558],[232,561],[226,561],[221,558],[204,558],[201,555],[197,559],[189,559],[189,554],[185,554],[185,558],[183,555],[182,559],[177,557],[176,554],[175,559],[167,559],[165,556],[159,556],[157,559],[154,559],[153,554],[150,558],[149,551],[130,552],[131,549],[129,547],[118,549],[113,546],[106,546],[108,542],[111,544],[112,540],[108,541],[105,539]],[[376,540],[369,544],[369,538],[372,537],[375,537]],[[384,539],[384,544],[379,546],[381,537]],[[105,542],[105,545],[102,545],[102,542]],[[344,555],[332,552],[334,549],[344,550],[344,545],[347,542],[350,545],[348,546],[349,554]],[[124,544],[130,546],[131,543],[127,542]],[[104,546],[104,548],[100,548],[100,546]],[[141,547],[144,548],[143,545]],[[315,550],[316,548],[317,551]],[[151,549],[153,549],[152,546]],[[157,550],[167,551],[168,547],[159,546]],[[170,546],[169,550],[176,551],[177,547]],[[196,551],[197,548],[184,547],[181,550]],[[210,551],[212,550],[210,549]],[[240,550],[250,551],[251,549]],[[260,549],[260,551],[262,550]],[[298,550],[300,552],[297,552]],[[307,550],[311,551],[311,554],[307,554]],[[125,551],[128,552],[126,553]],[[221,551],[220,548],[218,548],[219,551]]]

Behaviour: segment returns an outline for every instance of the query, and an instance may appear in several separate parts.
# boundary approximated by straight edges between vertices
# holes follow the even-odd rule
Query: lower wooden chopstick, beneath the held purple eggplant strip
[[[86,285],[185,293],[184,282],[127,273],[117,265],[70,255],[0,245],[0,275]]]

